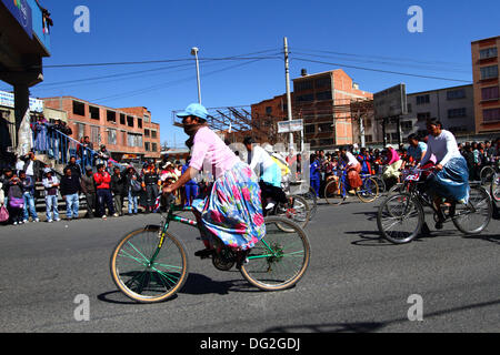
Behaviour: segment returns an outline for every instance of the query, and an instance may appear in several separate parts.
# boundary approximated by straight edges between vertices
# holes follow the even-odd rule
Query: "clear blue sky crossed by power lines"
[[[32,88],[31,95],[74,95],[111,108],[147,106],[153,121],[161,124],[161,141],[170,144],[176,141],[177,145],[181,145],[186,135],[171,126],[171,111],[198,100],[196,67],[190,55],[192,47],[200,48],[202,60],[202,103],[216,108],[249,105],[284,93],[280,53],[283,37],[288,37],[290,45],[292,79],[300,75],[301,68],[307,68],[309,73],[342,68],[361,90],[377,92],[403,82],[410,93],[471,82],[470,42],[500,36],[499,1],[41,0],[41,3],[54,21],[52,55],[44,59],[44,65],[166,59],[189,61],[46,68],[46,81]],[[81,4],[90,10],[89,33],[73,30],[77,19],[73,11]],[[413,4],[423,9],[422,33],[407,30],[410,19],[407,10]],[[266,52],[251,57],[276,59],[203,61],[203,58],[261,51]],[[298,58],[466,82],[302,62]],[[60,83],[173,65],[178,67]],[[0,87],[8,89],[4,84]]]

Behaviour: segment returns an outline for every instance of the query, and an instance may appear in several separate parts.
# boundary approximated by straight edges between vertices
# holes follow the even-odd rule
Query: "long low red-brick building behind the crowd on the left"
[[[111,109],[73,97],[42,100],[46,108],[67,112],[72,139],[88,135],[96,150],[104,144],[116,161],[160,158],[160,125],[146,108]]]

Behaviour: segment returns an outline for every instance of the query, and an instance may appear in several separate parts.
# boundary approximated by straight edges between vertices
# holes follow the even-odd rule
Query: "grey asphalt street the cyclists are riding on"
[[[159,215],[2,226],[0,332],[499,332],[500,222],[479,236],[450,223],[392,245],[378,236],[380,201],[321,204],[307,227],[310,266],[294,288],[277,293],[194,257],[198,232],[174,224],[190,275],[173,300],[152,305],[117,291],[109,256],[126,232]],[[79,294],[90,297],[88,322],[74,320]],[[422,296],[422,322],[408,320],[412,294]]]

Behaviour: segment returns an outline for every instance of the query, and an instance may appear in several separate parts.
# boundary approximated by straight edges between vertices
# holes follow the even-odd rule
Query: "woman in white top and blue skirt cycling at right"
[[[452,202],[467,203],[469,200],[469,170],[466,159],[460,154],[454,135],[442,129],[437,119],[427,121],[429,140],[427,152],[422,158],[422,164],[427,163],[431,155],[436,156],[436,174],[427,180],[427,192],[433,197],[438,210],[438,222],[436,229],[442,229],[444,215],[441,212],[442,199]],[[420,166],[420,164],[419,164]]]

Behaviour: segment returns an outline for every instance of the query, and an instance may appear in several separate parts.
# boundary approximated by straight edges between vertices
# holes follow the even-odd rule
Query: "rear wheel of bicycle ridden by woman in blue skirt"
[[[481,186],[471,186],[468,204],[457,204],[454,226],[464,234],[479,234],[490,223],[493,205],[488,192]]]

